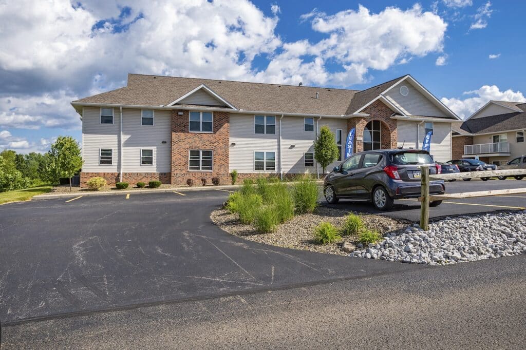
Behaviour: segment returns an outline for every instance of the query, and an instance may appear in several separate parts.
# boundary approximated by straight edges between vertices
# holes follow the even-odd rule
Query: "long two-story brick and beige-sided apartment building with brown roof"
[[[460,120],[410,75],[357,91],[129,74],[126,87],[72,105],[82,116],[81,186],[95,176],[228,183],[234,169],[240,179],[319,176],[312,146],[322,126],[335,133],[340,159],[356,128],[355,152],[420,148],[432,130],[431,154],[447,161],[451,122]]]

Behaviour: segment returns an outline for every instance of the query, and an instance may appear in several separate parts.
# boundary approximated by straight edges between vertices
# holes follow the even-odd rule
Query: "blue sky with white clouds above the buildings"
[[[526,94],[524,2],[157,4],[1,5],[0,149],[80,141],[69,102],[124,86],[127,73],[353,89],[411,74],[464,117]]]

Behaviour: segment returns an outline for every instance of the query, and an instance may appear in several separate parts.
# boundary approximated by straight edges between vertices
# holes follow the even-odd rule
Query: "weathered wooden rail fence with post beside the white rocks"
[[[459,198],[475,198],[475,197],[490,197],[492,195],[502,194],[519,194],[526,193],[526,188],[507,189],[507,190],[491,190],[491,191],[475,191],[462,193],[444,193],[437,195],[429,195],[429,181],[431,180],[453,180],[453,179],[476,179],[476,178],[491,178],[497,176],[517,176],[526,175],[526,169],[506,169],[506,170],[484,170],[484,171],[467,171],[454,172],[449,174],[429,174],[429,166],[420,167],[421,174],[421,196],[418,200],[420,204],[420,227],[423,230],[429,228],[429,202],[441,201],[444,199],[459,199]]]

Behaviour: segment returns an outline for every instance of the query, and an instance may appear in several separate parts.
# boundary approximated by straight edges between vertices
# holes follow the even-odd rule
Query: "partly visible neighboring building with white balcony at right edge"
[[[453,158],[500,165],[526,155],[526,103],[489,101],[463,123],[453,123]]]

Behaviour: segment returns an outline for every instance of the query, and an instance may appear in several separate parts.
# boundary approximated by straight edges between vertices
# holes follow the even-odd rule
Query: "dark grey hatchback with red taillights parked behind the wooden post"
[[[379,210],[390,210],[393,200],[420,196],[420,166],[440,173],[429,152],[415,149],[382,149],[356,153],[323,179],[323,194],[334,204],[340,198],[369,200]],[[446,191],[443,180],[429,183],[431,194]],[[429,205],[436,207],[442,201]]]

